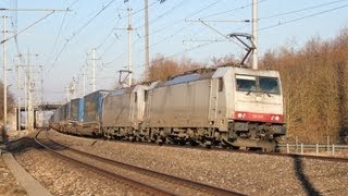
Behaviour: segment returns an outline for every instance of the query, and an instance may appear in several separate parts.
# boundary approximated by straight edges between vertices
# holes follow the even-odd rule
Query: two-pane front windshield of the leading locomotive
[[[251,75],[236,75],[238,91],[279,94],[278,78]]]

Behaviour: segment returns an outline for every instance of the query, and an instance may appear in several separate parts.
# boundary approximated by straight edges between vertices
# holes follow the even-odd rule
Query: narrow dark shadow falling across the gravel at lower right
[[[303,189],[306,191],[307,195],[311,195],[311,196],[318,196],[321,195],[312,185],[312,183],[310,182],[310,180],[308,179],[308,176],[306,175],[304,171],[303,171],[303,162],[302,159],[297,156],[294,155],[293,156],[293,160],[294,160],[294,169],[296,172],[296,176],[297,179],[300,181]]]

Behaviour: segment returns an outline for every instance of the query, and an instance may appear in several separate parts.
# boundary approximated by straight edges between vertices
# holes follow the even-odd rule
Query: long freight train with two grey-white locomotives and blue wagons
[[[273,151],[286,134],[279,73],[223,66],[164,82],[98,90],[60,107],[59,132]]]

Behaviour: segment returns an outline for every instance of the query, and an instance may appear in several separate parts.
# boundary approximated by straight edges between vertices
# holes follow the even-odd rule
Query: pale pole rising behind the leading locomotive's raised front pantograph
[[[258,70],[258,0],[252,0],[252,69]]]

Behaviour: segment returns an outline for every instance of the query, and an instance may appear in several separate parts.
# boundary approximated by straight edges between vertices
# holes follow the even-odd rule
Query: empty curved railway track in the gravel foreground
[[[39,134],[36,143],[50,152],[151,195],[244,195],[73,149],[48,137],[39,139]]]

